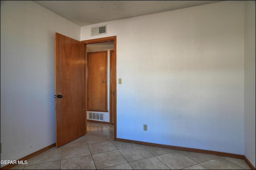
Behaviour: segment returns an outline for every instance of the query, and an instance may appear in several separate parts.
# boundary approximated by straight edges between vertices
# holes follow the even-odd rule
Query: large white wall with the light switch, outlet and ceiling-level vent
[[[244,155],[244,1],[81,28],[81,40],[108,36],[122,78],[117,138]]]

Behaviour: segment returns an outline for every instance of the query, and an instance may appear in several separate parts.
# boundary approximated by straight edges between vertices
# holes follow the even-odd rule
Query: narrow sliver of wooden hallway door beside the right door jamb
[[[110,123],[114,124],[116,115],[116,56],[110,50]]]

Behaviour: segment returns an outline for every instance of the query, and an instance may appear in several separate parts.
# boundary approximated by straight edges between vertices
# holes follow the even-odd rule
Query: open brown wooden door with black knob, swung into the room
[[[85,44],[55,33],[56,147],[86,130]],[[62,96],[60,96],[62,95]]]

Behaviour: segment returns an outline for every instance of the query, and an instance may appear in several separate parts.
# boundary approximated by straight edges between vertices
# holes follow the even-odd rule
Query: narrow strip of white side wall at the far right
[[[255,0],[244,12],[244,155],[255,167]]]

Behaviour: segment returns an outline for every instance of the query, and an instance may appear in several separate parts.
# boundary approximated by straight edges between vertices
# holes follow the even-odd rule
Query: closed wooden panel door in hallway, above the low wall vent
[[[88,111],[108,112],[107,68],[108,51],[87,53],[88,58]]]

